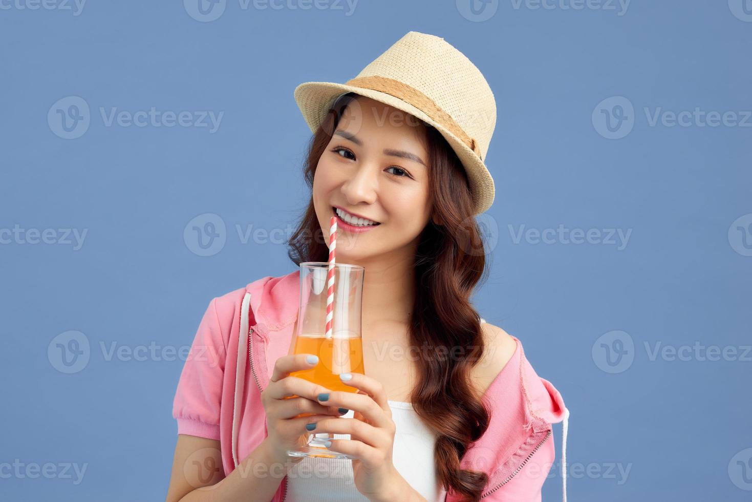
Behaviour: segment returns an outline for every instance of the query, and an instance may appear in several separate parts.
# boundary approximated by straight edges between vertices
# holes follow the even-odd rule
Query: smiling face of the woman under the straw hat
[[[378,225],[357,232],[338,219],[338,261],[414,255],[431,216],[424,138],[411,114],[363,96],[348,103],[316,168],[314,208],[326,239],[335,206]]]

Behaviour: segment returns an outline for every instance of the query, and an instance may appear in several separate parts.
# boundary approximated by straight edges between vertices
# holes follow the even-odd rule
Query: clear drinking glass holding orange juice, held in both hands
[[[327,275],[329,263],[303,262],[300,264],[300,303],[298,324],[290,343],[289,354],[316,354],[319,363],[311,370],[300,370],[290,376],[323,385],[331,391],[356,393],[357,388],[344,384],[340,373],[365,373],[360,315],[365,268],[347,263],[334,265],[334,294],[332,305],[332,333],[326,336],[326,303],[328,300]],[[297,396],[290,396],[289,399]],[[311,416],[301,413],[298,417]],[[293,457],[350,458],[341,452],[332,452],[324,443],[333,439],[350,439],[350,434],[320,432],[308,435],[305,444],[288,451]]]

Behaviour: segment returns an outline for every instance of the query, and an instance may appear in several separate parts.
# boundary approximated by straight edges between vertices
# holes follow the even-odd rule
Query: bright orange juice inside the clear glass
[[[360,336],[332,336],[324,333],[303,334],[296,337],[295,354],[316,354],[319,364],[311,370],[293,371],[290,376],[323,385],[331,391],[357,392],[339,379],[340,373],[365,373],[363,370],[363,345]],[[297,397],[297,396],[292,396]],[[291,397],[291,398],[292,398]],[[287,398],[286,398],[287,399]],[[297,416],[311,416],[301,413]]]

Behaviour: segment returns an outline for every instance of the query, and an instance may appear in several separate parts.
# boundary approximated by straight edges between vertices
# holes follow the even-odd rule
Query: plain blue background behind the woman
[[[570,471],[570,500],[750,500],[752,464],[732,458],[750,458],[752,354],[650,354],[658,342],[739,354],[752,343],[752,227],[734,224],[752,223],[752,127],[651,126],[644,112],[752,109],[752,14],[741,0],[633,0],[626,12],[507,0],[487,5],[496,8],[487,20],[490,10],[474,18],[462,0],[361,0],[350,15],[347,4],[243,9],[235,0],[209,22],[177,1],[90,0],[79,15],[14,2],[0,10],[0,231],[87,233],[80,249],[0,245],[0,464],[87,469],[77,485],[0,477],[2,500],[164,500],[183,361],[108,361],[101,344],[190,345],[211,298],[295,269],[284,239],[244,243],[236,227],[285,229],[308,200],[300,173],[311,133],[293,89],[347,81],[411,30],[465,53],[496,96],[487,156],[496,201],[481,216],[493,268],[475,303],[522,340],[566,400],[567,459],[581,465]],[[47,121],[67,96],[90,107],[79,138]],[[593,120],[593,111],[617,116],[596,109],[612,96],[635,111],[619,139]],[[106,126],[100,107],[224,114],[212,133]],[[226,224],[211,256],[183,236],[205,214]],[[515,242],[522,225],[560,224],[631,233],[621,249]],[[88,364],[71,374],[47,355],[68,330],[90,344]],[[613,331],[634,345],[616,373],[599,340]],[[561,424],[554,433],[544,500],[561,497]],[[610,465],[629,475],[604,475]]]

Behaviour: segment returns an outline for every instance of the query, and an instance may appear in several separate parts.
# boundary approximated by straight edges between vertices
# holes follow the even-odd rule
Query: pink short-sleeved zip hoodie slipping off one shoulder
[[[267,436],[261,392],[277,359],[290,348],[298,316],[299,273],[260,278],[211,300],[180,374],[172,409],[177,434],[219,440],[226,475]],[[490,425],[469,446],[460,465],[488,473],[481,496],[488,502],[540,502],[554,459],[551,424],[563,419],[566,502],[569,411],[559,391],[532,369],[520,340],[514,340],[517,350],[484,394],[493,410]],[[272,502],[285,502],[286,494],[287,476]],[[460,497],[449,491],[445,500],[456,502]]]

